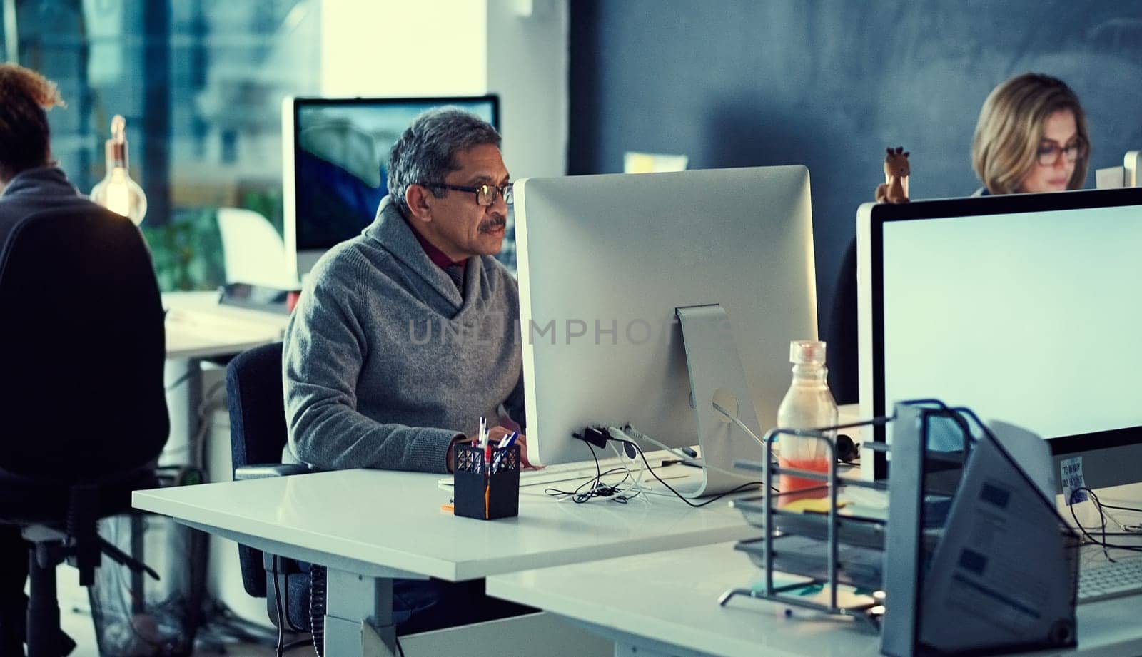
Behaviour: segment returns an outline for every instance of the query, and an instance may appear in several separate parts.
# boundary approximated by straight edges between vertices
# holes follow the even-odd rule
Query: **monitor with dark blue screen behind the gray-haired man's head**
[[[496,96],[295,98],[282,102],[287,260],[296,278],[372,222],[388,193],[388,152],[412,120],[455,105],[499,128]]]

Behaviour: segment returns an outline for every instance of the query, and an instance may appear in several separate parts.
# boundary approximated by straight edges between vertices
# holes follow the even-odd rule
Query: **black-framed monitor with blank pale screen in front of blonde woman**
[[[866,204],[856,230],[864,415],[935,397],[1088,486],[1142,480],[1142,189]]]

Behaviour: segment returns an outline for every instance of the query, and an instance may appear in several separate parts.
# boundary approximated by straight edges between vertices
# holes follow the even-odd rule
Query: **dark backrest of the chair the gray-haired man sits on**
[[[230,449],[233,467],[281,463],[286,447],[286,406],[282,402],[282,343],[248,349],[226,366],[230,408]],[[240,545],[242,584],[250,595],[266,595],[262,552]]]

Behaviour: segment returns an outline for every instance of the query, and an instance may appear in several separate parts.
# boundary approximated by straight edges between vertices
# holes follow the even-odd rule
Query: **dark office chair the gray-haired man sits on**
[[[255,347],[226,366],[226,404],[230,408],[231,457],[234,479],[258,479],[309,472],[300,464],[283,464],[286,409],[282,402],[282,343]],[[255,598],[266,599],[266,613],[278,624],[273,591],[272,554],[239,545],[242,585]],[[278,559],[278,591],[287,630],[309,632],[311,573],[292,559]],[[320,625],[320,619],[319,619]]]

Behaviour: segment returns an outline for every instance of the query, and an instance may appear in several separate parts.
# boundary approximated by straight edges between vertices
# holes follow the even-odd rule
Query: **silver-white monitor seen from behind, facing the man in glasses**
[[[789,341],[817,335],[804,167],[525,179],[515,198],[532,460],[589,461],[572,437],[587,425],[701,443],[697,416],[711,404],[691,408],[691,378],[713,365],[729,381],[731,367],[715,364],[724,350],[687,366],[679,307],[724,308],[748,386],[742,417],[751,406],[754,432],[773,427],[791,380]],[[740,429],[705,424],[702,446],[725,448],[723,469],[762,459]],[[729,485],[715,477],[703,493]]]

